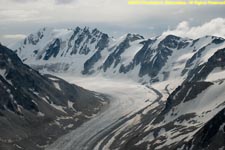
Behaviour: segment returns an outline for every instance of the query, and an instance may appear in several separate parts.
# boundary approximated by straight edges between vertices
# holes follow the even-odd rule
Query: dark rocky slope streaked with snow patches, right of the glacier
[[[121,150],[224,149],[224,52],[225,48],[217,50],[204,65],[192,70],[166,101],[150,104],[127,122],[139,116],[137,124],[114,130],[99,147],[110,142],[110,149]]]

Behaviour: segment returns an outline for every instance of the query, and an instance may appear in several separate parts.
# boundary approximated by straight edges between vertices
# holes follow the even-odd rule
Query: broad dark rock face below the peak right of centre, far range
[[[151,45],[155,42],[155,40],[145,41],[143,48],[135,55],[133,62],[135,65],[141,64],[140,77],[148,74],[153,80],[157,81],[154,77],[167,63],[173,49],[185,48],[189,43],[173,35],[168,35],[156,48],[152,48]]]

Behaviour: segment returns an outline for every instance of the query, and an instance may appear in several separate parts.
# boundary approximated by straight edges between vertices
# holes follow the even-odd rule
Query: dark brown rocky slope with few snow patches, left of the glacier
[[[0,45],[0,149],[43,149],[106,104],[105,96],[41,75]]]

